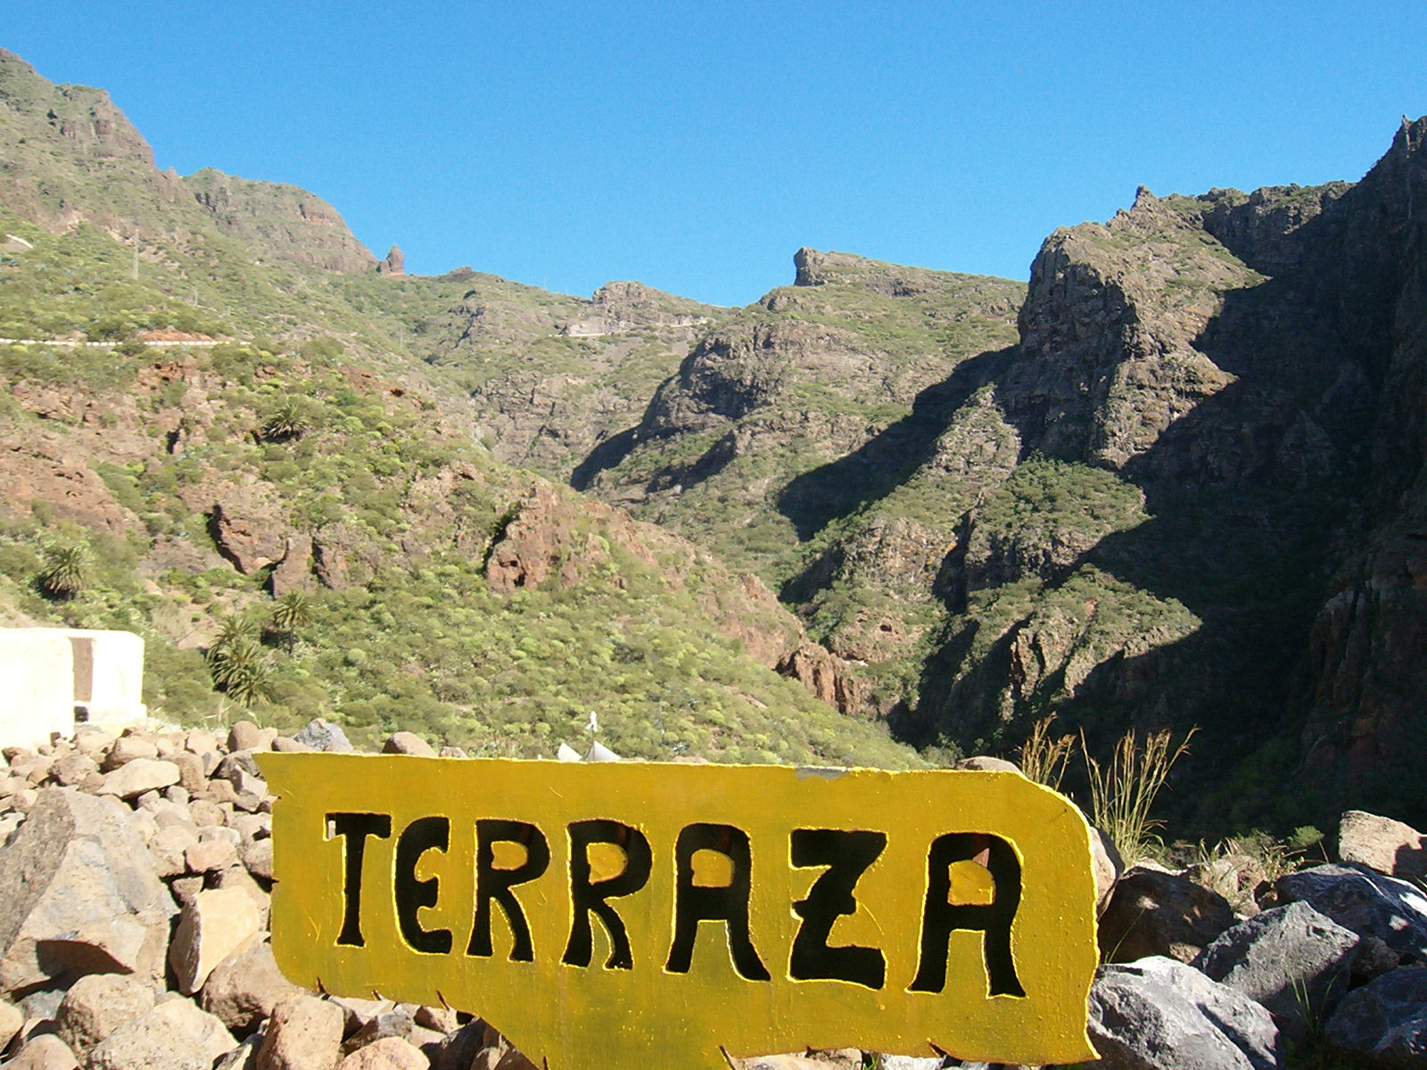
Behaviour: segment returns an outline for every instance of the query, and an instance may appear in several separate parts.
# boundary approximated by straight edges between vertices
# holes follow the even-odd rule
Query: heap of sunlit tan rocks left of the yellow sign
[[[24,1070],[532,1070],[447,1007],[317,996],[268,944],[255,750],[350,750],[240,722],[81,728],[0,769],[0,1050]],[[411,733],[387,750],[432,753]]]

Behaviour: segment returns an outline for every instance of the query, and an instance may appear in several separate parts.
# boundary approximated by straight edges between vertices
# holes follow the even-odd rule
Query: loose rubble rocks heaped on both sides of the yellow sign
[[[324,720],[293,738],[240,722],[224,738],[83,726],[0,752],[6,1064],[534,1070],[481,1019],[320,996],[278,973],[267,932],[273,799],[253,759],[270,749],[351,745]],[[408,732],[384,749],[432,753]],[[1323,1046],[1354,1066],[1427,1064],[1427,896],[1401,879],[1427,869],[1423,837],[1350,813],[1340,855],[1246,890],[1241,865],[1142,865],[1116,882],[1102,853],[1097,1066],[1276,1070]],[[883,1070],[983,1066],[846,1050],[751,1059],[743,1070],[859,1070],[869,1059]]]

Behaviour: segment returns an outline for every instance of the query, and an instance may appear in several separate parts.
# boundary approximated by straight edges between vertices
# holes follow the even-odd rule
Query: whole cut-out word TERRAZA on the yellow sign
[[[392,836],[392,817],[390,813],[330,813],[327,827],[330,839],[338,837],[344,843],[342,923],[335,943],[362,947],[362,887],[368,880],[365,846],[371,837]],[[517,893],[551,876],[549,839],[532,822],[498,817],[477,820],[474,832],[475,902],[469,939],[464,942],[465,954],[487,959],[497,954],[494,929],[498,909],[511,936],[508,960],[532,962],[535,944]],[[571,926],[559,962],[591,966],[592,919],[598,919],[609,944],[604,967],[634,969],[634,949],[618,903],[649,885],[655,872],[649,837],[624,822],[598,817],[569,822],[565,835]],[[828,937],[839,917],[856,913],[858,882],[882,856],[888,833],[793,829],[786,845],[786,859],[792,866],[822,870],[806,897],[791,903],[799,924],[788,954],[788,977],[883,987],[886,956],[879,947],[829,946]],[[422,857],[432,850],[451,850],[450,817],[417,817],[400,832],[391,887],[382,889],[387,895],[380,902],[388,896],[394,902],[398,932],[408,947],[427,954],[451,954],[457,946],[452,930],[424,927],[420,917],[422,907],[441,905],[440,877],[417,876]],[[733,825],[686,825],[675,837],[669,863],[674,916],[664,969],[688,973],[698,924],[711,922],[723,926],[728,954],[738,974],[748,982],[769,982],[772,976],[749,932],[755,873],[749,835]],[[762,865],[778,865],[778,859],[769,857],[759,867]],[[985,876],[970,866],[977,866]],[[925,885],[918,969],[908,989],[940,992],[946,984],[950,933],[966,930],[985,934],[990,994],[1025,996],[1010,954],[1010,926],[1020,902],[1020,860],[1010,843],[985,833],[938,836],[926,852]],[[534,887],[529,890],[537,892]]]

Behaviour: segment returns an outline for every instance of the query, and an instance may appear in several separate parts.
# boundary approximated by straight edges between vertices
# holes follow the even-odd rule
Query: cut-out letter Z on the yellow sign
[[[868,866],[888,845],[885,832],[848,829],[793,829],[791,840],[795,866],[828,866],[808,889],[808,897],[793,903],[803,922],[793,937],[788,976],[793,980],[846,980],[880,989],[888,963],[876,947],[829,947],[828,936],[842,914],[855,913],[856,887]]]

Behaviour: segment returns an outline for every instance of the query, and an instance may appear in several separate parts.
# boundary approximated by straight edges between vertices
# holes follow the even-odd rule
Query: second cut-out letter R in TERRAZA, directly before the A
[[[618,876],[591,882],[589,847],[594,843],[614,843],[625,853],[625,867]],[[649,840],[638,829],[612,820],[584,820],[569,823],[569,903],[574,920],[569,926],[569,943],[561,962],[567,966],[589,966],[594,954],[594,933],[589,914],[594,912],[609,934],[609,957],[606,970],[634,969],[634,954],[629,950],[629,936],[624,920],[606,899],[628,896],[649,882],[654,869],[654,853]]]

